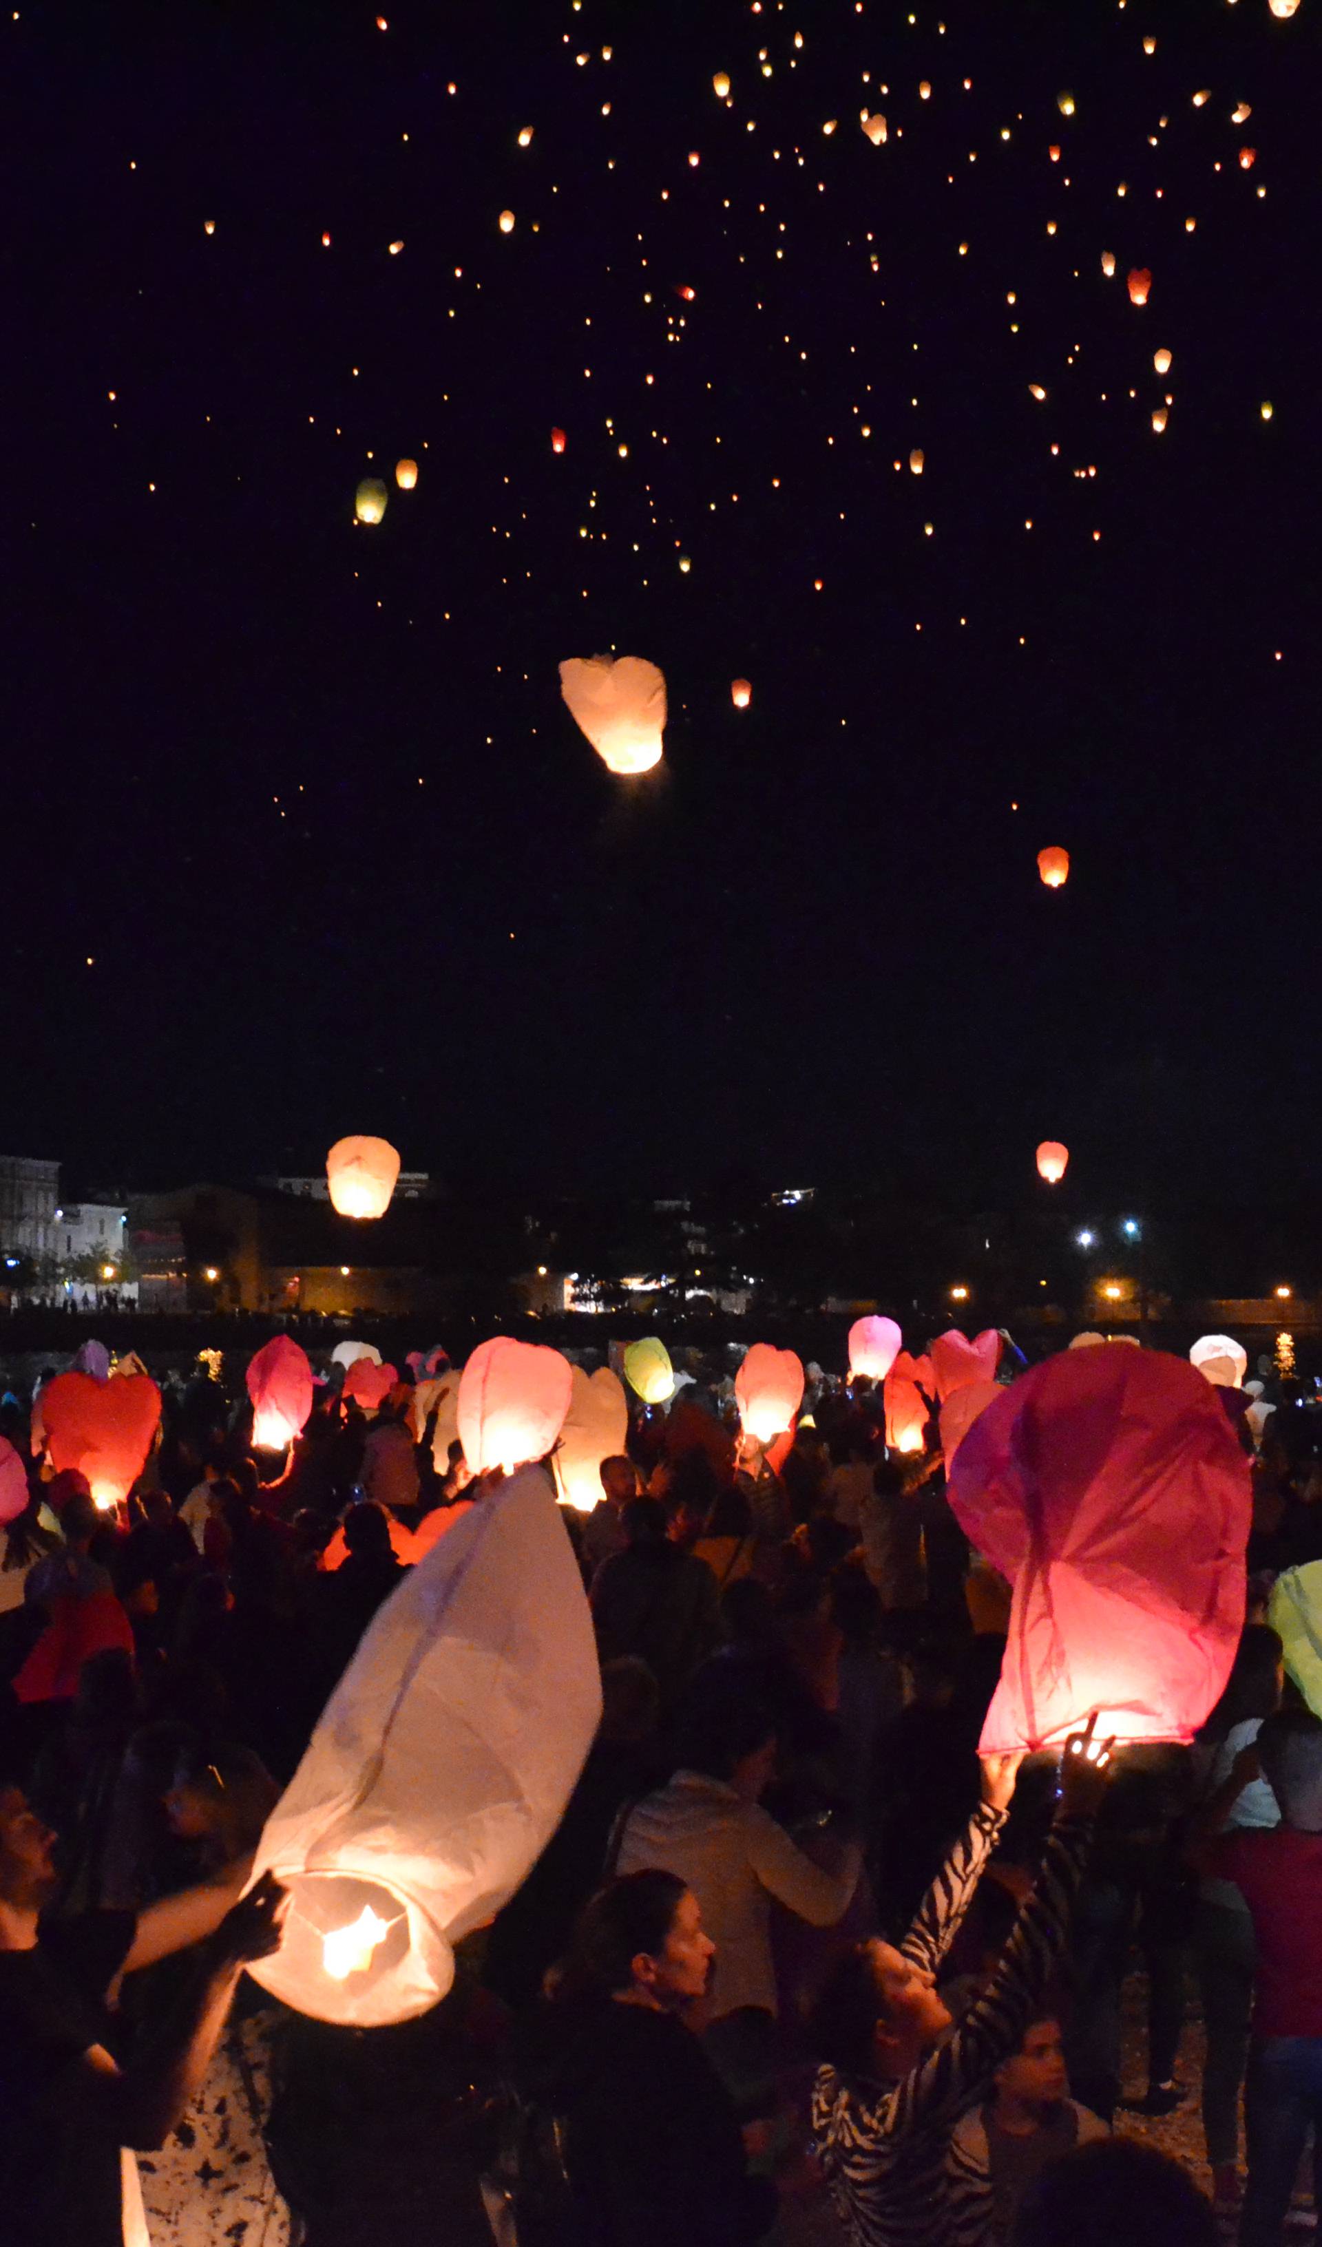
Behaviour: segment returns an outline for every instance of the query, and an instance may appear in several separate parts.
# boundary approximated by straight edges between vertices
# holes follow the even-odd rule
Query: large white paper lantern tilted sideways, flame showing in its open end
[[[528,1467],[405,1577],[330,1694],[259,1843],[290,1890],[259,1982],[353,2029],[425,2013],[555,1831],[598,1719],[582,1580]]]

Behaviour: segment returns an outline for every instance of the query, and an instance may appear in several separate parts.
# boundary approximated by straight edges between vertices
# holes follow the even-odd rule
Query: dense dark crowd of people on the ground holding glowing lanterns
[[[821,1377],[742,1443],[724,1362],[634,1402],[562,1510],[603,1719],[549,1847],[418,2020],[335,2029],[243,1966],[252,1856],[364,1629],[490,1497],[411,1382],[319,1380],[288,1458],[162,1375],[99,1508],[0,1436],[0,2238],[13,2247],[1277,2247],[1322,2155],[1322,1719],[1270,1577],[1322,1557],[1313,1409],[1234,1418],[1250,1604],[1192,1746],[978,1755],[1009,1586],[938,1422]],[[241,1368],[234,1368],[241,1375]],[[1122,1991],[1147,1971],[1147,2085]],[[1201,2085],[1178,2078],[1194,1989]],[[1201,2096],[1212,2193],[1124,2135]],[[1248,2186],[1241,2180],[1248,2123]]]

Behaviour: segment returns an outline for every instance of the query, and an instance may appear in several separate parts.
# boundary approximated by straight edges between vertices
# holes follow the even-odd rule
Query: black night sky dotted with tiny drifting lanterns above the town
[[[0,27],[0,1144],[1311,1189],[1322,0],[382,4]]]

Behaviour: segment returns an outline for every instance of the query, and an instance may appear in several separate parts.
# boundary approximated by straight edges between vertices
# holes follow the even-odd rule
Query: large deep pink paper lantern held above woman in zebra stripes
[[[1061,1350],[978,1416],[949,1497],[1014,1584],[980,1753],[1194,1737],[1243,1627],[1248,1461],[1162,1350]]]

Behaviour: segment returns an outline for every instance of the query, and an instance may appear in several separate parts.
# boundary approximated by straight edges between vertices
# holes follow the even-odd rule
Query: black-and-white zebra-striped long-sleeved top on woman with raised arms
[[[899,1946],[915,1966],[938,1971],[1003,1825],[1003,1811],[974,1811]],[[834,2067],[818,2072],[812,2132],[852,2247],[944,2247],[951,2130],[1018,2049],[1063,1948],[1090,1838],[1090,1818],[1057,1818],[1000,1966],[949,2043],[890,2085],[845,2078]]]

